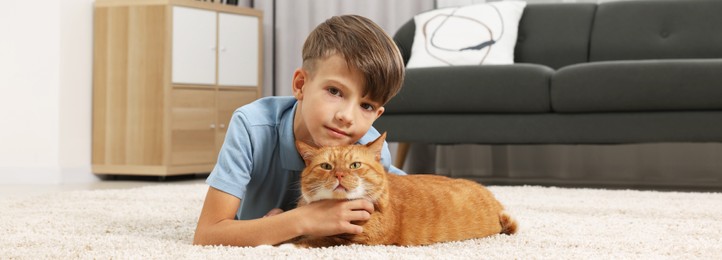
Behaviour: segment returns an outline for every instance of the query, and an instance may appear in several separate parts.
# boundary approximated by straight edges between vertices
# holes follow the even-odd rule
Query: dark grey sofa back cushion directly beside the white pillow
[[[587,62],[593,3],[529,4],[519,21],[514,59],[554,69]]]

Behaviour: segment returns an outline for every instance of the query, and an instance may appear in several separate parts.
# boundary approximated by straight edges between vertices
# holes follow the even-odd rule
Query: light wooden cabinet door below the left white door
[[[173,89],[171,121],[172,165],[215,163],[215,90]]]

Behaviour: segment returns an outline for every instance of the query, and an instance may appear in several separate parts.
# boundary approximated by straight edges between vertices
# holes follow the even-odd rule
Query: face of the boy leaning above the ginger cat
[[[384,112],[363,96],[363,75],[339,55],[316,61],[313,75],[302,68],[293,75],[298,107],[293,121],[296,140],[317,146],[353,144]]]

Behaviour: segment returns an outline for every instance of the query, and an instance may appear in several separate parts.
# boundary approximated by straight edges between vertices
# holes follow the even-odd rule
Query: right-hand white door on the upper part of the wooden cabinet
[[[218,15],[218,84],[258,86],[259,18],[238,14]]]

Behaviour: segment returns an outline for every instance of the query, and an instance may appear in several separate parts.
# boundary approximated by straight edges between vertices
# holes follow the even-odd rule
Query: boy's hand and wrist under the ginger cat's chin
[[[351,221],[371,218],[374,205],[363,199],[321,200],[297,209],[303,211],[301,221],[304,235],[321,237],[343,233],[360,234],[363,228]]]

